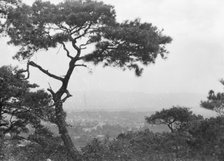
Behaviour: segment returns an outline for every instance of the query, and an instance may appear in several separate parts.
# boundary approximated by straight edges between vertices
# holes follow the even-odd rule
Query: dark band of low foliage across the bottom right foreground
[[[113,140],[93,140],[82,148],[85,160],[223,161],[223,117],[197,119],[185,131],[129,131]]]

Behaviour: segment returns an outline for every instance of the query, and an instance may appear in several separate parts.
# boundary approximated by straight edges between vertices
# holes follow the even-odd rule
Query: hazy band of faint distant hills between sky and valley
[[[206,94],[198,93],[144,93],[116,91],[71,91],[65,103],[66,111],[147,111],[155,112],[173,106],[190,108],[196,114],[215,116],[214,111],[200,107]]]

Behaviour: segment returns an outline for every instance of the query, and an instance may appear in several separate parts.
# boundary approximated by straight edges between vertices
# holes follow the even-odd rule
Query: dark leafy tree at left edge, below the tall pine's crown
[[[31,84],[17,68],[0,68],[0,131],[3,134],[26,132],[27,125],[34,128],[40,120],[49,120],[51,96]],[[34,91],[33,91],[34,90]]]

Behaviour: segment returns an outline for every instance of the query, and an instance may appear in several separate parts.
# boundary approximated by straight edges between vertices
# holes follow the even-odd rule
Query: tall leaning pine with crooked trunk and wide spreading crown
[[[137,76],[143,66],[155,63],[158,56],[166,58],[165,45],[171,42],[157,27],[141,23],[139,19],[119,23],[111,5],[97,1],[65,1],[54,5],[37,0],[32,6],[21,3],[7,9],[5,31],[9,44],[21,47],[16,59],[28,60],[29,67],[39,69],[43,74],[61,82],[57,90],[48,89],[55,105],[56,124],[61,138],[73,160],[80,160],[65,122],[63,103],[71,97],[67,87],[76,67],[86,67],[86,62],[101,63],[104,66],[134,70]],[[70,43],[75,50],[69,50]],[[63,77],[57,76],[31,60],[40,49],[64,49],[69,65]],[[83,54],[88,46],[95,49]]]

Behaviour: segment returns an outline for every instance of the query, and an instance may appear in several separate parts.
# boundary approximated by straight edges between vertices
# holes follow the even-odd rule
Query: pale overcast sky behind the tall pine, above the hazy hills
[[[51,0],[56,2],[59,0]],[[167,46],[167,60],[158,60],[145,68],[142,77],[133,71],[91,67],[76,69],[70,82],[72,91],[124,91],[145,93],[203,93],[222,90],[218,82],[224,78],[224,1],[223,0],[103,0],[115,6],[117,19],[141,18],[151,22],[173,38]],[[30,0],[26,2],[31,3]],[[12,46],[1,44],[0,66],[14,64]],[[58,47],[59,48],[59,47]],[[49,55],[41,52],[34,60],[50,72],[62,73],[67,68],[65,53],[58,48]],[[24,64],[24,63],[22,63]],[[48,87],[55,81],[33,70],[31,80]]]

